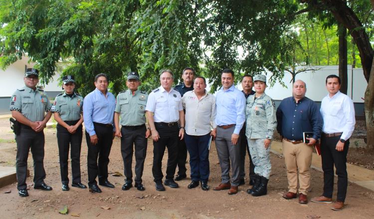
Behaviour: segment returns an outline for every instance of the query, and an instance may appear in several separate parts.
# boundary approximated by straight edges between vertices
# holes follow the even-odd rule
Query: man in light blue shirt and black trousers
[[[88,146],[88,187],[90,192],[101,193],[96,182],[97,176],[99,185],[114,188],[108,181],[108,163],[114,136],[116,98],[108,91],[106,74],[95,76],[95,86],[96,89],[84,98],[83,119]]]

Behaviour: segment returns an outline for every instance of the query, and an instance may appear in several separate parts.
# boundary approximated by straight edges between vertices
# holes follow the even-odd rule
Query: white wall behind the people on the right
[[[332,74],[339,75],[339,66],[315,66],[320,70],[299,73],[296,75],[296,80],[303,80],[307,85],[306,97],[313,101],[322,101],[327,95],[326,90],[326,77]],[[353,96],[352,96],[352,74],[353,74]],[[269,79],[271,73],[268,73],[266,78]],[[287,88],[282,87],[278,82],[274,87],[268,87],[265,92],[273,100],[283,100],[286,97],[292,96],[292,82],[291,74],[285,72],[283,78],[284,84]],[[365,80],[363,69],[353,69],[352,66],[348,66],[348,96],[353,98],[355,103],[364,103],[361,99],[365,96],[365,90],[368,83]],[[238,85],[239,90],[242,90],[241,85]]]

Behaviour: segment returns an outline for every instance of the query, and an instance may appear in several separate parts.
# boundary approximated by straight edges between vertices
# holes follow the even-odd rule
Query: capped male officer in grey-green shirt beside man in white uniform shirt
[[[124,164],[125,184],[122,190],[129,190],[133,185],[133,145],[135,144],[135,187],[144,191],[142,175],[144,160],[147,154],[147,138],[150,129],[146,128],[146,105],[148,95],[138,90],[140,85],[138,72],[130,72],[127,76],[126,85],[129,90],[120,92],[117,96],[117,104],[114,113],[114,124],[116,136],[121,138],[121,154]],[[120,121],[121,115],[121,121]],[[119,128],[119,123],[122,127]]]

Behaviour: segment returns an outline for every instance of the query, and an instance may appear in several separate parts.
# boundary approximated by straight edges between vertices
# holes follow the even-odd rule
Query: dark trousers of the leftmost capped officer
[[[16,155],[16,176],[17,189],[26,189],[27,158],[31,148],[32,159],[34,161],[34,186],[44,183],[44,132],[35,132],[27,125],[21,125],[21,131],[15,136],[17,142]]]

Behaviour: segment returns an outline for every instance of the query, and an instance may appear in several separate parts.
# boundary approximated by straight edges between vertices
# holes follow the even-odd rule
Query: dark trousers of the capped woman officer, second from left
[[[78,120],[65,121],[68,125],[75,125]],[[82,125],[80,125],[74,134],[71,134],[65,127],[57,124],[57,144],[58,155],[60,157],[60,172],[62,184],[69,183],[68,177],[68,159],[69,148],[71,158],[71,173],[73,183],[80,183],[80,150],[82,145]]]

